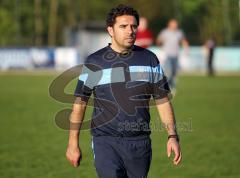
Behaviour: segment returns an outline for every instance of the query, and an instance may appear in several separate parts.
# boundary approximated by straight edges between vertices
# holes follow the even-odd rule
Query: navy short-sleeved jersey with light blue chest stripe
[[[91,54],[79,76],[75,96],[93,94],[93,136],[149,135],[150,98],[167,97],[170,89],[158,58],[134,46],[117,53],[110,46]]]

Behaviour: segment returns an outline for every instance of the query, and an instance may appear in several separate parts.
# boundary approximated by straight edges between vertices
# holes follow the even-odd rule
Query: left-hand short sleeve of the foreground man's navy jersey
[[[87,64],[82,66],[82,72],[79,75],[74,96],[81,97],[82,101],[87,102],[94,88],[93,72]]]

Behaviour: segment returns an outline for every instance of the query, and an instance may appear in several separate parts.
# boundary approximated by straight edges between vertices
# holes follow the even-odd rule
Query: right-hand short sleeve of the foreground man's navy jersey
[[[153,67],[152,67],[152,97],[156,99],[162,99],[171,93],[170,87],[167,82],[167,78],[163,72],[163,69],[159,63],[156,55],[153,56]]]

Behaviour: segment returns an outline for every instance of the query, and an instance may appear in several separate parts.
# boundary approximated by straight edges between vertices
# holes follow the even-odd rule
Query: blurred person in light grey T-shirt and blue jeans
[[[163,64],[164,71],[168,77],[168,83],[173,91],[176,91],[176,75],[178,70],[178,58],[180,53],[180,44],[184,47],[185,53],[188,51],[188,41],[182,30],[178,28],[176,19],[168,22],[167,28],[159,32],[156,44],[162,45],[166,60]]]

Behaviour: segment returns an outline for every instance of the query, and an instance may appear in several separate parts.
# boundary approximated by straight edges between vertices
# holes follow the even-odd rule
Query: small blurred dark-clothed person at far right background
[[[210,38],[206,41],[204,46],[207,50],[208,75],[213,76],[214,75],[213,58],[214,58],[214,49],[215,49],[216,43],[213,38]]]

